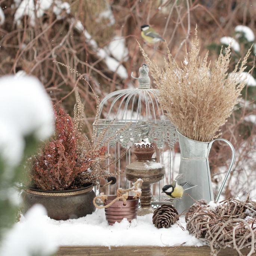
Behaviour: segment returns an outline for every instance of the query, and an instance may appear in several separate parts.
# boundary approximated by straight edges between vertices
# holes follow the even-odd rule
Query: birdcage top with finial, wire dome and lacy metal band
[[[172,147],[176,141],[175,127],[157,101],[158,90],[150,88],[148,66],[142,64],[139,73],[138,78],[131,74],[138,80],[138,88],[117,90],[105,96],[100,104],[98,123],[93,127],[98,132],[108,127],[106,137],[112,137],[125,123],[131,122],[129,129],[112,139],[110,145],[120,142],[127,146],[129,142],[149,138],[159,147],[164,141]]]

